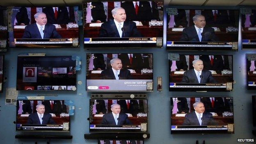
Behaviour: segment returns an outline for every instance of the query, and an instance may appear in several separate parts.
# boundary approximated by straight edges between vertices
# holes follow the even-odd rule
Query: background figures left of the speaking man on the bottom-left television
[[[32,108],[30,101],[18,101],[17,105],[18,114],[31,114]]]

